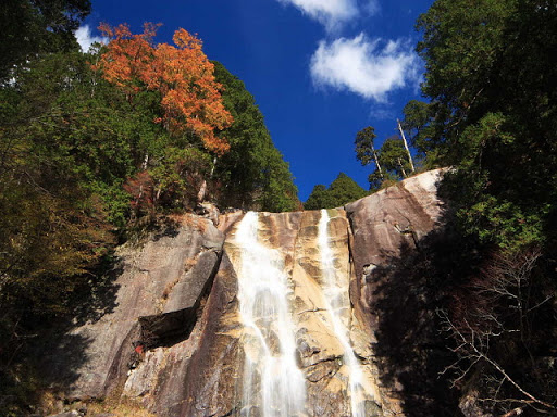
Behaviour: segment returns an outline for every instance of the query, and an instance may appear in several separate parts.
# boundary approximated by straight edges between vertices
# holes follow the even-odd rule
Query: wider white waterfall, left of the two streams
[[[301,416],[306,381],[296,364],[292,290],[277,251],[258,238],[258,214],[249,212],[238,226],[240,250],[238,300],[246,332],[243,417]]]

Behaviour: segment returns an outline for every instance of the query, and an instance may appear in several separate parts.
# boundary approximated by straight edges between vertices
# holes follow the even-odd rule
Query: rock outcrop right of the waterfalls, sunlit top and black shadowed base
[[[398,404],[401,415],[431,415],[423,409],[430,409],[430,378],[437,378],[428,365],[434,306],[423,288],[426,277],[416,279],[409,271],[424,238],[444,220],[436,194],[442,174],[408,178],[346,206],[355,268],[350,296],[371,342],[382,395]]]

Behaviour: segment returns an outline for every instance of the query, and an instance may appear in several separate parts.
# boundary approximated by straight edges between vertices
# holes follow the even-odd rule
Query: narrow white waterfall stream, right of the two
[[[360,363],[354,354],[349,338],[349,317],[350,300],[346,286],[338,281],[336,269],[334,267],[334,256],[329,243],[329,213],[321,211],[319,220],[319,250],[321,252],[321,268],[323,275],[323,294],[325,306],[331,314],[333,330],[344,350],[344,363],[348,367],[349,383],[348,393],[350,395],[350,407],[352,417],[364,417],[364,391],[362,387],[362,370]]]

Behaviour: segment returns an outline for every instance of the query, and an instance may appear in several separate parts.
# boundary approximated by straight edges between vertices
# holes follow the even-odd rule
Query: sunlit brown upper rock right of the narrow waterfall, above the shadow
[[[356,279],[350,298],[358,316],[375,330],[376,317],[370,300],[374,298],[373,270],[387,267],[401,251],[416,249],[419,241],[437,225],[443,203],[436,197],[442,170],[408,178],[396,186],[346,205],[354,240],[350,251]]]

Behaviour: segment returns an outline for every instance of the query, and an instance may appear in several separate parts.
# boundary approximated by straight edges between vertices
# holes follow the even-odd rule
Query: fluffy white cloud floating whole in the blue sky
[[[408,42],[369,40],[360,34],[329,43],[322,40],[311,58],[310,71],[318,86],[386,102],[388,92],[419,81],[420,61]]]

